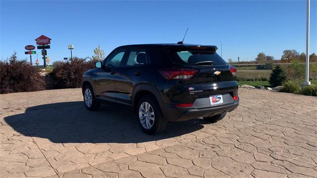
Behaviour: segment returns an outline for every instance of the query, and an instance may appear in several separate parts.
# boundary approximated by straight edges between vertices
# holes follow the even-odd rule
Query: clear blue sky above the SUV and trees
[[[185,43],[218,46],[222,57],[280,59],[283,50],[306,49],[306,0],[274,1],[9,1],[0,0],[1,58],[46,35],[51,61],[88,57],[100,45],[109,54],[126,44]],[[311,0],[311,53],[317,52],[317,0]],[[40,64],[43,60],[39,54]],[[36,55],[33,55],[33,61]]]

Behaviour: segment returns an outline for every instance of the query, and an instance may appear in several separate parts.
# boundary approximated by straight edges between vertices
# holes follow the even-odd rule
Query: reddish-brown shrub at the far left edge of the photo
[[[14,52],[8,60],[0,61],[0,93],[44,90],[44,76],[39,72],[38,67],[19,60]]]

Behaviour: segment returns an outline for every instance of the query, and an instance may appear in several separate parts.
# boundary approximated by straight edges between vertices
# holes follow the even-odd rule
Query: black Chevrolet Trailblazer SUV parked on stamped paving
[[[187,44],[126,45],[83,75],[88,110],[101,102],[134,107],[141,129],[163,131],[167,121],[222,119],[239,105],[236,68],[217,47]]]

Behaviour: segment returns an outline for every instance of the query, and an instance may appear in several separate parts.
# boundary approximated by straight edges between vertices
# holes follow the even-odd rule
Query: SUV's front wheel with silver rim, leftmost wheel
[[[84,87],[84,104],[87,110],[96,111],[100,108],[101,103],[95,98],[94,90],[91,85],[86,85]]]

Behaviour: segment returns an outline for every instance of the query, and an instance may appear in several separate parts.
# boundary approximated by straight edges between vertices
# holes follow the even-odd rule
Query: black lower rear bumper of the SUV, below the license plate
[[[212,106],[206,108],[178,108],[173,104],[160,103],[160,109],[164,119],[167,121],[181,121],[195,118],[204,118],[230,112],[239,106],[239,99],[220,106]]]

